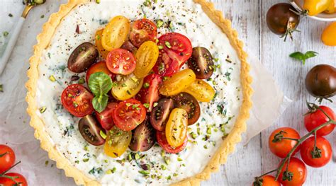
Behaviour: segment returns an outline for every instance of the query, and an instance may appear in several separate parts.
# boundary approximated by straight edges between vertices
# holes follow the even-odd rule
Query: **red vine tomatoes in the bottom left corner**
[[[13,149],[4,144],[0,144],[0,185],[28,185],[26,178],[24,178],[23,175],[19,173],[7,173],[13,166],[15,166],[15,160],[16,156]]]

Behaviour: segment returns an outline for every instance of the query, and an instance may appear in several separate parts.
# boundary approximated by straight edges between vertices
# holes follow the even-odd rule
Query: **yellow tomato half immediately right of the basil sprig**
[[[133,98],[142,88],[143,79],[138,79],[134,74],[121,76],[112,88],[112,95],[117,100],[128,100]]]

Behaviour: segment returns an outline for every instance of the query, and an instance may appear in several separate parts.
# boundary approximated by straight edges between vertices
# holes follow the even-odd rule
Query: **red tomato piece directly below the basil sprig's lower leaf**
[[[116,109],[118,106],[118,103],[108,103],[106,106],[106,109],[103,110],[103,112],[96,112],[96,117],[99,123],[101,124],[101,127],[106,130],[110,130],[113,125],[113,110]]]

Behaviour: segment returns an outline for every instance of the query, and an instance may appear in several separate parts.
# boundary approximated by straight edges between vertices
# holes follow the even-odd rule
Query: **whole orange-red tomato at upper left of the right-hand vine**
[[[291,138],[291,139],[274,139],[274,136],[276,139],[279,139],[282,137],[284,138]],[[272,153],[274,153],[276,156],[280,158],[285,158],[289,151],[293,149],[293,147],[298,143],[298,141],[292,140],[292,139],[300,139],[300,134],[296,132],[295,129],[289,128],[289,127],[282,127],[279,129],[274,130],[274,132],[271,133],[269,136],[269,149]],[[297,148],[294,152],[297,153],[299,148]]]

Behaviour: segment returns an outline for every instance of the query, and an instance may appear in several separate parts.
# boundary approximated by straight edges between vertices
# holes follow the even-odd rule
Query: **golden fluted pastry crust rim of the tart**
[[[60,6],[60,10],[57,13],[53,13],[50,16],[49,21],[43,25],[42,33],[40,33],[37,37],[38,44],[34,46],[33,57],[30,57],[30,69],[28,70],[29,80],[26,83],[26,88],[28,89],[26,96],[26,101],[28,103],[27,112],[31,117],[30,125],[35,129],[35,138],[40,140],[40,146],[48,152],[49,158],[56,161],[57,168],[65,170],[65,175],[74,178],[77,185],[100,184],[96,180],[88,178],[80,170],[72,166],[67,158],[57,151],[50,140],[50,136],[47,132],[45,132],[43,121],[36,113],[38,107],[35,97],[38,81],[38,64],[40,63],[40,57],[43,50],[45,50],[45,48],[49,45],[49,42],[52,39],[57,26],[60,24],[60,21],[62,21],[62,18],[67,16],[67,14],[77,5],[84,4],[89,1],[90,0],[69,0],[67,4]],[[228,155],[233,153],[235,144],[241,141],[241,134],[246,130],[246,120],[250,116],[249,112],[252,107],[252,88],[250,87],[252,78],[249,74],[250,65],[246,61],[247,54],[242,50],[243,43],[238,40],[237,32],[231,28],[231,22],[225,19],[220,11],[215,10],[212,3],[209,3],[206,0],[194,0],[194,2],[201,4],[203,11],[208,15],[208,17],[211,18],[211,20],[218,25],[219,28],[221,28],[223,33],[228,36],[230,44],[235,48],[238,57],[240,58],[240,79],[242,84],[243,101],[240,107],[240,114],[237,116],[237,120],[232,131],[215,152],[211,161],[209,161],[208,165],[206,165],[206,168],[194,177],[186,178],[185,180],[181,180],[173,185],[200,185],[202,180],[210,178],[211,173],[217,172],[219,166],[225,163]]]

